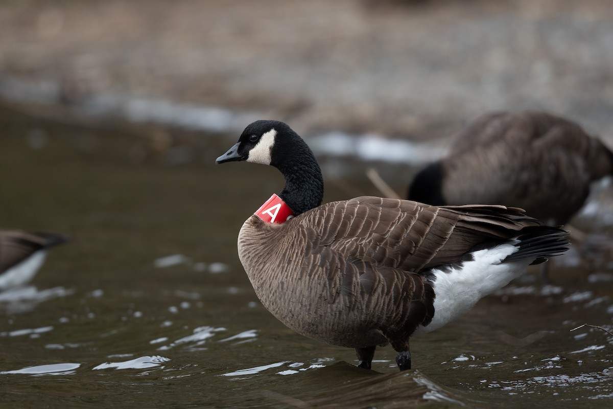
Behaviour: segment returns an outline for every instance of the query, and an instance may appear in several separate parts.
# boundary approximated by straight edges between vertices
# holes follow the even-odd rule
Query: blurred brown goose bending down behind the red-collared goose
[[[545,112],[489,113],[417,174],[408,199],[517,206],[553,226],[566,224],[590,183],[606,175],[613,175],[613,153],[578,124]]]

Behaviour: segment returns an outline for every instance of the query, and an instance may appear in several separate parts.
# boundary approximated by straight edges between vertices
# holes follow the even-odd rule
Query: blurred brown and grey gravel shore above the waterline
[[[610,1],[379,3],[2,2],[0,80],[55,83],[58,107],[113,92],[414,140],[543,109],[613,142]]]

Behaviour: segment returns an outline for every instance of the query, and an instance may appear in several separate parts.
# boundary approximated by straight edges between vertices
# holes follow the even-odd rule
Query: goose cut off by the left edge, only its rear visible
[[[65,235],[19,230],[0,230],[0,291],[15,288],[34,278],[47,249],[66,242]]]

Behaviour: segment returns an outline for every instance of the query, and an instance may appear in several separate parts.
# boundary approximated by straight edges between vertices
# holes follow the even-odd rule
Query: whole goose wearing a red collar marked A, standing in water
[[[249,124],[216,159],[230,161],[272,165],[285,180],[238,234],[238,257],[262,305],[299,334],[354,348],[360,368],[390,344],[398,368],[411,369],[409,337],[567,250],[567,232],[518,208],[371,196],[321,205],[313,151],[280,121]]]

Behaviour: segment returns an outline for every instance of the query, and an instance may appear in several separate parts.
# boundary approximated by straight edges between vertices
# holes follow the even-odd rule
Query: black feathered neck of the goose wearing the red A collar
[[[324,179],[313,151],[302,138],[291,129],[283,132],[276,137],[271,156],[272,166],[285,178],[285,187],[279,197],[295,215],[321,205]]]

